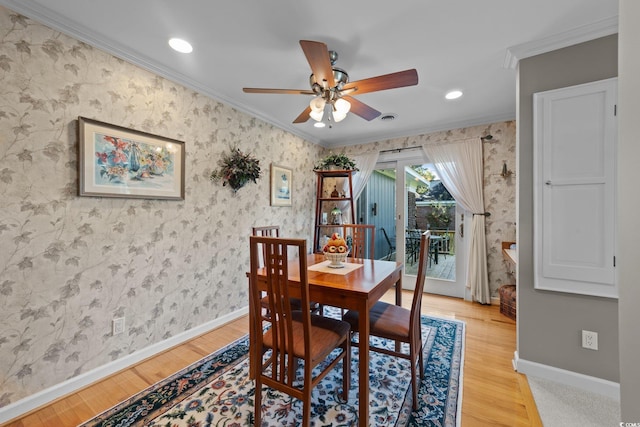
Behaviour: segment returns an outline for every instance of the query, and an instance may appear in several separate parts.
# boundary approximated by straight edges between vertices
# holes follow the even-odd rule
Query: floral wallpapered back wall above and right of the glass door
[[[489,287],[491,295],[497,298],[500,286],[515,283],[502,255],[502,242],[516,241],[516,175],[514,173],[507,178],[500,175],[504,163],[507,164],[507,170],[515,171],[516,124],[514,121],[396,138],[373,144],[347,146],[342,149],[333,148],[331,151],[356,155],[371,151],[457,141],[489,134],[493,139],[483,144],[484,203],[486,210],[491,212],[491,216],[486,218]],[[329,150],[326,150],[325,154],[327,151]]]

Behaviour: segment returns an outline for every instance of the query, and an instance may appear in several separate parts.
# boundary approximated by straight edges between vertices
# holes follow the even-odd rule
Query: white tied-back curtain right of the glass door
[[[471,138],[442,144],[423,145],[422,148],[433,163],[442,184],[456,199],[456,202],[473,213],[467,287],[470,289],[471,298],[474,301],[491,304],[487,272],[484,197],[482,195],[482,140]]]

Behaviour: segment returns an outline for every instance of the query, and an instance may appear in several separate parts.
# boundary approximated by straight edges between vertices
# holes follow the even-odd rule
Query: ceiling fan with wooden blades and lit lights
[[[309,106],[296,117],[293,123],[304,123],[309,117],[318,123],[322,123],[325,117],[329,121],[339,122],[349,111],[370,121],[378,117],[381,114],[380,111],[358,101],[352,95],[418,84],[418,72],[415,69],[349,82],[347,72],[334,66],[338,54],[328,50],[326,44],[300,40],[300,46],[311,66],[310,90],[251,87],[242,89],[246,93],[314,95]]]

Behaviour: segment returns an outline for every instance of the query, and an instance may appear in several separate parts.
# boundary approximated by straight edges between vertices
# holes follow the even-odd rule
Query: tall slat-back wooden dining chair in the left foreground
[[[302,425],[310,425],[311,392],[342,361],[342,397],[348,399],[350,387],[351,339],[347,322],[311,314],[307,276],[307,241],[251,236],[250,300],[253,310],[262,307],[261,292],[266,292],[269,318],[256,316],[253,325],[256,339],[251,349],[252,372],[255,373],[255,423],[262,419],[262,386],[274,388],[302,400]],[[266,253],[265,268],[259,265],[260,250]],[[289,267],[299,284],[290,285]],[[258,276],[259,270],[264,275]],[[261,286],[258,286],[258,283]],[[301,302],[295,310],[292,299]],[[339,352],[332,354],[336,349]],[[330,357],[329,357],[330,356]],[[296,380],[298,361],[302,361],[303,381]],[[326,363],[326,366],[325,366]],[[323,365],[320,372],[314,368]]]

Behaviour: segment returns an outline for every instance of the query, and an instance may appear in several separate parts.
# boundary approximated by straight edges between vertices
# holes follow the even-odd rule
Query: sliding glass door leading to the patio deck
[[[462,298],[469,216],[444,189],[422,150],[394,154],[381,155],[358,201],[359,220],[376,226],[376,258],[404,260],[403,287],[413,289],[419,236],[430,230],[425,292]]]

